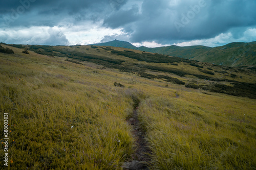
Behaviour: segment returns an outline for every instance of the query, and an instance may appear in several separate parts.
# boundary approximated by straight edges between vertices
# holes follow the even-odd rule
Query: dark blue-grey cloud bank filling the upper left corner
[[[0,21],[4,26],[56,26],[64,19],[83,21],[103,19],[120,9],[126,0],[10,0],[0,2]],[[3,25],[6,23],[6,25]],[[1,23],[0,23],[1,24]]]

